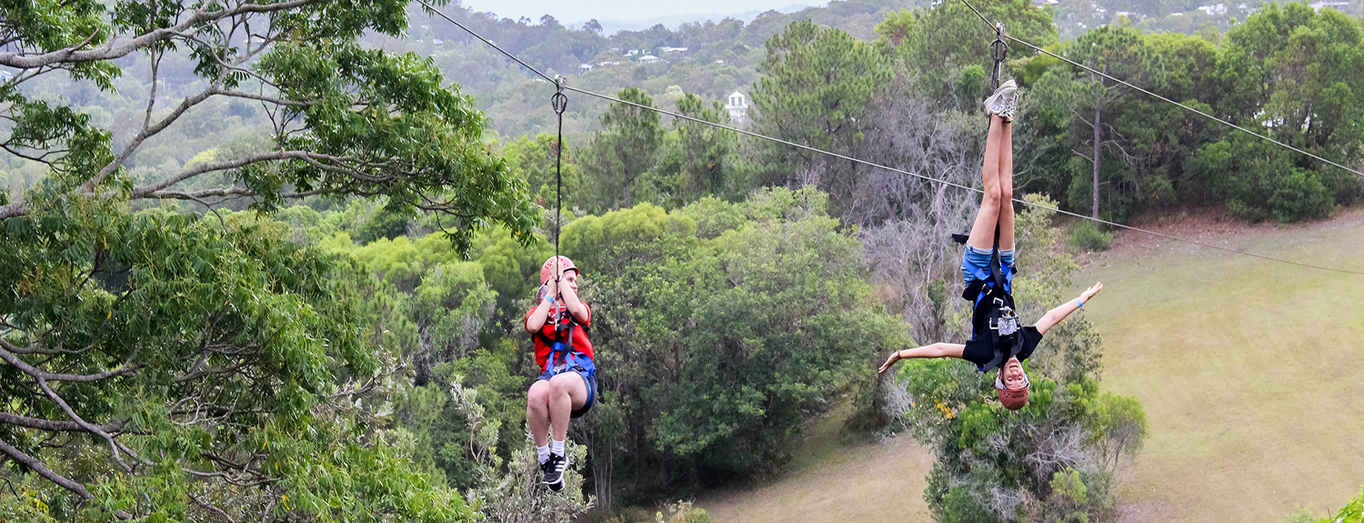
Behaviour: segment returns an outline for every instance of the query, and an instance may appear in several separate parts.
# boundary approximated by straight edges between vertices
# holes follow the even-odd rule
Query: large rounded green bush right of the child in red
[[[636,494],[779,466],[805,421],[870,386],[870,359],[907,343],[869,300],[861,246],[825,199],[769,190],[674,213],[640,205],[565,229],[566,251],[604,251],[584,274],[603,407],[623,411],[599,422],[623,426],[593,430],[593,452],[615,456]]]

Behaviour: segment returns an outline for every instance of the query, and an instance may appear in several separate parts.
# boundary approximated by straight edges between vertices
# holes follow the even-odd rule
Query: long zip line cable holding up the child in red
[[[419,1],[421,1],[421,0],[419,0]],[[966,0],[963,0],[963,1],[966,1]],[[423,4],[426,4],[426,3],[423,1]],[[970,5],[970,4],[967,4],[967,5]],[[449,18],[446,18],[446,19],[449,19]],[[983,19],[983,16],[982,16],[982,19]],[[454,22],[454,20],[451,20],[451,22]],[[986,22],[989,22],[989,20],[986,20]],[[460,29],[464,29],[465,31],[469,31],[469,34],[473,34],[479,40],[483,40],[484,42],[487,42],[486,38],[480,37],[477,33],[471,31],[468,27],[460,25]],[[1009,38],[1013,38],[1013,37],[1009,37]],[[1018,38],[1015,38],[1015,40],[1018,40]],[[1023,44],[1026,44],[1026,42],[1023,42]],[[491,42],[488,42],[488,45],[491,45]],[[502,51],[502,49],[498,48],[498,51]],[[513,60],[516,60],[518,63],[522,63],[520,59],[509,55],[506,51],[502,51],[502,53],[507,55],[509,57],[512,57]],[[531,68],[531,66],[527,66],[527,68]],[[531,68],[531,70],[535,71],[535,68]],[[544,76],[544,74],[542,74],[540,71],[535,71],[535,72],[539,74],[539,75],[542,75],[542,76]],[[546,76],[546,78],[548,78],[548,76]],[[591,96],[591,97],[597,97],[597,98],[602,98],[602,100],[607,100],[607,101],[611,101],[611,102],[636,107],[636,108],[640,108],[640,109],[653,111],[653,112],[657,112],[660,115],[667,115],[667,116],[672,116],[672,117],[682,119],[682,120],[696,122],[696,123],[707,124],[707,126],[716,127],[716,128],[723,128],[723,130],[738,132],[738,134],[742,134],[742,135],[747,135],[747,137],[753,137],[753,138],[758,138],[758,139],[765,139],[765,141],[775,142],[775,143],[782,143],[782,145],[791,146],[791,147],[795,147],[795,149],[807,150],[807,152],[817,153],[817,154],[824,154],[824,156],[831,156],[831,157],[840,158],[840,160],[847,160],[847,161],[851,161],[851,162],[855,162],[855,164],[862,164],[862,165],[868,165],[868,167],[873,167],[873,168],[878,168],[878,169],[885,169],[885,171],[889,171],[889,172],[895,172],[895,173],[900,173],[900,175],[907,175],[907,176],[913,176],[913,178],[919,178],[919,179],[923,179],[923,180],[928,180],[928,182],[933,182],[933,183],[940,183],[940,184],[944,184],[944,186],[948,186],[948,187],[956,187],[956,188],[962,188],[962,190],[967,190],[967,191],[973,191],[973,193],[985,194],[985,191],[981,190],[981,188],[975,188],[975,187],[970,187],[970,186],[963,186],[960,183],[953,183],[953,182],[937,179],[937,178],[933,178],[933,176],[925,176],[925,175],[908,172],[908,171],[904,171],[904,169],[898,169],[898,168],[893,168],[893,167],[887,167],[887,165],[876,164],[876,162],[872,162],[872,161],[866,161],[866,160],[861,160],[861,158],[854,158],[851,156],[844,156],[844,154],[839,154],[839,153],[833,153],[833,152],[828,152],[828,150],[822,150],[822,149],[816,149],[816,147],[812,147],[812,146],[807,146],[807,145],[801,145],[801,143],[788,142],[788,141],[784,141],[784,139],[780,139],[780,138],[773,138],[773,137],[757,134],[757,132],[753,132],[753,131],[745,131],[742,128],[730,127],[730,126],[724,126],[724,124],[720,124],[720,123],[715,123],[715,122],[709,122],[709,120],[702,120],[702,119],[698,119],[698,117],[686,116],[686,115],[675,113],[675,112],[671,112],[671,111],[659,109],[659,108],[651,107],[651,105],[636,104],[633,101],[621,100],[621,98],[617,98],[617,97],[612,97],[612,96],[593,93],[593,91],[589,91],[589,90],[585,90],[585,89],[578,89],[578,87],[574,87],[574,86],[570,86],[567,83],[562,83],[562,82],[558,82],[558,81],[554,81],[554,82],[555,82],[557,86],[559,86],[559,89],[563,89],[563,90],[570,90],[570,91],[574,91],[574,93],[581,93],[581,94],[587,94],[587,96]],[[562,147],[562,145],[561,145],[561,147]],[[1143,228],[1139,228],[1139,227],[1124,225],[1124,224],[1120,224],[1120,223],[1108,221],[1108,220],[1102,220],[1102,218],[1095,218],[1095,217],[1090,217],[1090,216],[1084,216],[1084,214],[1079,214],[1079,213],[1072,213],[1069,210],[1063,210],[1063,209],[1058,209],[1058,208],[1050,208],[1050,206],[1046,206],[1046,205],[1033,203],[1033,202],[1022,201],[1022,199],[1018,199],[1018,198],[1013,198],[1013,202],[1022,203],[1022,205],[1026,205],[1026,206],[1030,206],[1030,208],[1046,209],[1046,210],[1050,210],[1050,212],[1054,212],[1054,213],[1058,213],[1058,214],[1065,214],[1065,216],[1076,217],[1076,218],[1080,218],[1080,220],[1088,220],[1088,221],[1105,224],[1105,225],[1109,225],[1109,227],[1116,227],[1116,228],[1121,228],[1121,229],[1142,232],[1142,234],[1157,236],[1157,238],[1165,238],[1165,239],[1174,240],[1174,242],[1184,242],[1184,243],[1188,243],[1188,244],[1194,244],[1194,246],[1199,246],[1199,247],[1206,247],[1206,249],[1213,249],[1213,250],[1219,250],[1219,251],[1225,251],[1225,253],[1247,255],[1247,257],[1251,257],[1251,258],[1259,258],[1259,259],[1264,259],[1264,261],[1288,264],[1288,265],[1297,265],[1297,266],[1308,268],[1308,269],[1318,269],[1318,270],[1329,270],[1329,272],[1337,272],[1337,273],[1344,273],[1344,274],[1364,276],[1364,272],[1359,272],[1359,270],[1335,269],[1335,268],[1329,268],[1329,266],[1320,266],[1320,265],[1311,265],[1311,264],[1296,262],[1296,261],[1292,261],[1292,259],[1282,259],[1282,258],[1274,258],[1274,257],[1267,257],[1267,255],[1259,255],[1259,254],[1254,254],[1254,253],[1239,251],[1239,250],[1234,250],[1234,249],[1230,249],[1230,247],[1222,247],[1222,246],[1215,246],[1215,244],[1211,244],[1211,243],[1203,243],[1203,242],[1198,242],[1198,240],[1191,240],[1191,239],[1185,239],[1185,238],[1180,238],[1180,236],[1168,235],[1168,234],[1163,234],[1163,232],[1147,231],[1147,229],[1143,229]]]

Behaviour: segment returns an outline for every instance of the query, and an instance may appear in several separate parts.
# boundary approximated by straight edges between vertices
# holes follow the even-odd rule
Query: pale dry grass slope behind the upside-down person
[[[1364,272],[1364,209],[1307,227],[1146,227]],[[1133,234],[1082,262],[1076,294],[1105,284],[1084,307],[1103,335],[1103,386],[1140,399],[1150,423],[1123,472],[1124,522],[1274,523],[1299,507],[1324,516],[1360,492],[1364,276]],[[786,477],[697,504],[716,522],[929,520],[926,451],[903,437],[839,447],[833,429],[817,427]]]

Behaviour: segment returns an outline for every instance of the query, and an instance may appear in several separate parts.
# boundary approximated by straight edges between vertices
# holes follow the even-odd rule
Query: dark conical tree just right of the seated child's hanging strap
[[[648,93],[629,87],[617,97],[621,100],[653,107]],[[629,104],[611,104],[602,115],[602,130],[592,135],[591,158],[587,161],[587,176],[595,194],[610,198],[595,209],[621,209],[633,206],[636,182],[657,162],[657,150],[663,143],[663,126],[659,113]]]

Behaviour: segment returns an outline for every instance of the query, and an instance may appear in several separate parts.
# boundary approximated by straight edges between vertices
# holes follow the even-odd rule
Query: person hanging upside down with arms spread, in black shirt
[[[1016,91],[1013,81],[1008,81],[985,101],[985,108],[990,112],[990,134],[985,141],[985,165],[981,168],[985,195],[962,257],[962,279],[966,284],[962,298],[974,303],[971,340],[964,345],[934,343],[896,351],[878,370],[884,373],[896,361],[906,358],[962,358],[975,363],[981,371],[1000,367],[994,388],[1000,403],[1008,410],[1019,410],[1027,404],[1030,382],[1023,373],[1022,361],[1033,355],[1042,335],[1103,289],[1102,283],[1095,283],[1075,300],[1048,311],[1037,325],[1019,325],[1009,294],[1016,272],[1012,138]]]

